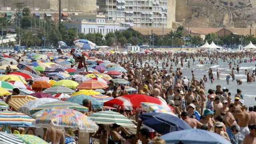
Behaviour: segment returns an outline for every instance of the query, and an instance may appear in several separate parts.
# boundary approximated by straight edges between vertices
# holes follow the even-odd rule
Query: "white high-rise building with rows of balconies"
[[[107,22],[141,28],[167,27],[167,0],[97,0]]]

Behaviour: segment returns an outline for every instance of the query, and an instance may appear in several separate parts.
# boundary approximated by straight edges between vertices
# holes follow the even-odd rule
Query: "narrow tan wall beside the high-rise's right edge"
[[[168,0],[167,7],[167,28],[172,28],[173,22],[176,21],[176,0]]]

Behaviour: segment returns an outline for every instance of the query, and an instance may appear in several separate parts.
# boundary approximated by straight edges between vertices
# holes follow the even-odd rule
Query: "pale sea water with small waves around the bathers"
[[[246,58],[247,60],[249,60],[249,58]],[[239,88],[240,90],[242,90],[242,94],[244,95],[244,104],[247,106],[254,106],[256,105],[256,101],[255,101],[255,97],[256,97],[256,82],[251,82],[251,83],[247,83],[246,81],[246,75],[245,75],[245,70],[250,71],[250,74],[252,73],[252,71],[255,69],[255,64],[256,62],[247,62],[247,63],[242,63],[242,64],[238,64],[240,67],[240,71],[239,74],[236,71],[236,66],[237,65],[232,65],[232,67],[235,68],[234,72],[235,72],[235,80],[234,82],[232,82],[232,78],[230,78],[229,81],[229,85],[226,84],[226,76],[228,74],[231,73],[231,69],[229,69],[229,65],[228,62],[223,62],[222,60],[218,60],[218,64],[210,64],[209,60],[208,64],[200,64],[200,62],[198,60],[196,60],[194,62],[193,65],[193,61],[192,59],[189,60],[190,61],[190,68],[188,68],[188,64],[184,64],[184,66],[181,68],[180,62],[177,66],[175,66],[175,64],[173,63],[173,70],[175,71],[176,68],[181,68],[183,76],[187,76],[188,79],[191,80],[192,78],[192,74],[191,74],[191,70],[194,71],[194,74],[196,76],[196,79],[200,79],[203,78],[204,75],[206,75],[206,77],[208,78],[208,82],[206,82],[206,90],[205,90],[205,94],[208,95],[208,89],[214,89],[216,90],[216,85],[221,85],[221,87],[226,87],[228,88],[229,92],[231,92],[231,97],[232,100],[234,100],[234,96],[236,95],[236,90]],[[204,61],[204,62],[206,62]],[[244,59],[242,60],[244,61]],[[147,61],[148,62],[148,61]],[[162,60],[159,62],[158,66],[161,69],[162,68]],[[165,63],[167,62],[167,59],[164,61]],[[151,60],[149,62],[150,64],[155,64],[155,62],[153,60]],[[169,69],[170,69],[170,61],[169,61],[169,66],[167,69],[167,72],[169,73]],[[211,84],[209,77],[208,77],[208,71],[209,69],[212,68],[213,70],[213,74],[214,74],[214,82],[213,84]],[[220,70],[221,74],[220,74],[220,80],[217,80],[217,69]],[[238,85],[236,83],[236,79],[240,79],[242,80],[243,84],[242,85]]]

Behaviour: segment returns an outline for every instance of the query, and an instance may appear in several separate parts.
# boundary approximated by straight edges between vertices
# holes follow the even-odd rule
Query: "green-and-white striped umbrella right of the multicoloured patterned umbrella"
[[[89,118],[96,124],[118,124],[125,127],[134,127],[132,121],[127,117],[111,110],[90,114]]]

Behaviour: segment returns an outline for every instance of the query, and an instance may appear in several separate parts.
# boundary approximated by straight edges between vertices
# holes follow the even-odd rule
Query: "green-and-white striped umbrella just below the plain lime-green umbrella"
[[[54,95],[54,94],[58,94],[58,93],[72,94],[75,91],[70,89],[70,88],[63,87],[63,86],[54,86],[54,87],[48,88],[48,89],[46,89],[46,90],[44,90],[42,92]]]

